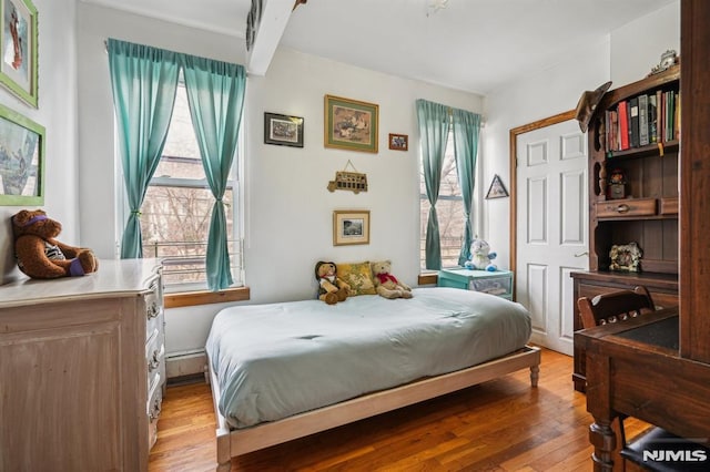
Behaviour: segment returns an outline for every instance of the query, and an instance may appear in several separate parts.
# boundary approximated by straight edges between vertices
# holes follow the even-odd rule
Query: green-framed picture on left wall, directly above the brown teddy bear
[[[44,205],[44,126],[2,105],[0,205]]]

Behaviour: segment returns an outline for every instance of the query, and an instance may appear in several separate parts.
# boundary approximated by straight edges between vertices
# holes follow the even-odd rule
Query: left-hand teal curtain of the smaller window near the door
[[[417,121],[419,124],[419,145],[424,184],[429,201],[429,215],[426,224],[425,266],[427,269],[442,268],[442,242],[436,202],[439,196],[442,167],[448,140],[448,106],[426,100],[417,100]]]

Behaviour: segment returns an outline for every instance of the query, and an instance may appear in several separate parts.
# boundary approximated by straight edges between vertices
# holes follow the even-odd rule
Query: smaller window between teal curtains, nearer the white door
[[[425,265],[426,224],[429,217],[429,201],[426,197],[424,170],[419,167],[419,267],[427,270]],[[439,198],[436,202],[439,219],[439,238],[442,242],[442,267],[457,267],[464,242],[464,198],[458,185],[458,172],[454,155],[454,132],[449,130],[442,168]]]

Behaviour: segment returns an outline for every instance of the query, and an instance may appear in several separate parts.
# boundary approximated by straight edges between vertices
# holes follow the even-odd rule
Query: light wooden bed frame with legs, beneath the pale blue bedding
[[[388,390],[346,400],[341,403],[295,414],[280,421],[262,423],[245,429],[233,429],[217,408],[220,384],[207,360],[214,413],[217,419],[217,471],[231,470],[232,458],[247,452],[281,444],[331,428],[407,407],[456,390],[503,377],[526,367],[530,368],[530,383],[537,387],[540,366],[540,349],[526,346],[508,356],[479,363],[468,369],[443,376],[429,377]]]

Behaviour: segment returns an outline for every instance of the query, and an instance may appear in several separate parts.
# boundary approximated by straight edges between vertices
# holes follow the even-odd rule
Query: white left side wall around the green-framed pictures
[[[43,208],[62,223],[59,239],[80,244],[77,175],[75,0],[34,0],[38,10],[39,107],[0,88],[0,103],[45,127],[45,198]],[[58,93],[61,91],[61,93]],[[10,217],[34,206],[0,206],[0,284],[20,276],[13,258]]]

